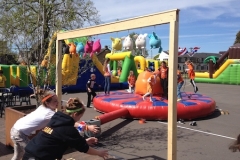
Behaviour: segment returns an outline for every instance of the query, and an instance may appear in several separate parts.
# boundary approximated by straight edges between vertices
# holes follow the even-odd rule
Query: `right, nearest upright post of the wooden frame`
[[[169,79],[168,79],[168,160],[177,159],[177,66],[178,66],[178,20],[170,21]]]

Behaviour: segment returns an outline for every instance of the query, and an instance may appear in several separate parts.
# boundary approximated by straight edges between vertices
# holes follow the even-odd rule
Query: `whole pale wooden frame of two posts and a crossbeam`
[[[169,10],[155,14],[135,17],[113,23],[57,33],[56,40],[56,93],[59,109],[62,99],[62,42],[61,40],[104,33],[119,32],[129,29],[143,28],[161,24],[170,24],[169,33],[169,83],[168,83],[168,160],[177,159],[177,57],[179,10]]]

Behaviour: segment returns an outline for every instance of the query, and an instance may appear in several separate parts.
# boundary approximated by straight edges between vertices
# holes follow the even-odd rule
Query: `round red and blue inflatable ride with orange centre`
[[[135,93],[128,93],[124,90],[112,91],[110,95],[97,95],[93,100],[94,107],[100,112],[116,113],[108,114],[108,119],[113,119],[115,116],[115,118],[167,120],[168,101],[158,96],[162,93],[159,79],[157,79],[156,86],[154,86],[153,102],[150,102],[149,98],[145,101],[142,99],[142,94],[146,93],[147,78],[151,75],[151,72],[139,74]],[[184,92],[181,94],[182,100],[177,102],[178,119],[196,119],[208,116],[215,111],[216,102],[212,98],[202,94]],[[191,95],[191,98],[189,98],[189,95]],[[106,120],[106,117],[103,119],[106,122],[109,120]]]

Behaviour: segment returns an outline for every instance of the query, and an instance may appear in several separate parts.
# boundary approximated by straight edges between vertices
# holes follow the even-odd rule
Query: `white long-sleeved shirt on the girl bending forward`
[[[41,105],[35,111],[17,120],[13,128],[29,136],[32,132],[44,128],[54,114],[53,110]]]

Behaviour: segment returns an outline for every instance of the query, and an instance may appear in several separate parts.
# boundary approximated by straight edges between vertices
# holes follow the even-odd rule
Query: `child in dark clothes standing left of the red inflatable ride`
[[[91,78],[88,80],[86,87],[87,87],[87,94],[88,94],[88,102],[87,102],[87,107],[90,107],[90,104],[93,100],[93,98],[97,95],[95,90],[94,90],[94,86],[97,85],[95,79],[96,79],[96,75],[95,74],[91,74],[90,76]],[[101,87],[100,85],[98,85],[98,87]],[[93,96],[93,97],[92,97]],[[91,99],[92,97],[92,99]]]

